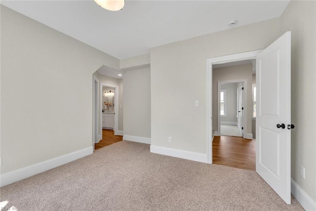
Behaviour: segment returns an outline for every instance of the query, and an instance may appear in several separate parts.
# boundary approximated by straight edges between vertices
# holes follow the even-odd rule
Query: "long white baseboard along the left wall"
[[[31,166],[27,166],[21,169],[13,170],[0,175],[0,187],[11,184],[13,182],[20,181],[22,179],[28,178],[35,174],[41,173],[43,171],[59,167],[61,165],[67,164],[71,161],[75,161],[84,156],[93,153],[93,147],[87,147],[76,152],[72,152],[66,155],[59,156],[57,158],[52,158],[47,161],[43,161]]]

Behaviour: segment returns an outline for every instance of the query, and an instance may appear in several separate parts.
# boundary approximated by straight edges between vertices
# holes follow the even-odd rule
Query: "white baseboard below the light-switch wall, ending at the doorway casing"
[[[154,146],[154,145],[150,145],[150,152],[160,154],[160,155],[176,157],[176,158],[183,158],[183,159],[187,159],[191,161],[208,163],[207,155],[203,153],[172,149],[172,148],[160,147],[160,146]]]

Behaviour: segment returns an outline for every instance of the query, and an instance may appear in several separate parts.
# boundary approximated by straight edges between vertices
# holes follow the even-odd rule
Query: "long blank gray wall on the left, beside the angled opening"
[[[1,174],[91,147],[92,74],[119,60],[0,9]]]

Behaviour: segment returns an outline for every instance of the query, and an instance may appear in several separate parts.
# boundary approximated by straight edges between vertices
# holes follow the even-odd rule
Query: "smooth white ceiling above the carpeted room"
[[[279,17],[289,0],[126,0],[108,11],[94,0],[1,0],[1,4],[118,59],[154,46]]]

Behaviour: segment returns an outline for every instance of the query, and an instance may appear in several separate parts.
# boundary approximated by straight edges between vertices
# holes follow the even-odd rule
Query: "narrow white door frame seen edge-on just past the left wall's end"
[[[92,77],[92,147],[93,147],[93,151],[94,151],[94,143],[99,142],[99,80],[98,78],[93,75]],[[97,85],[95,85],[97,84]],[[97,135],[96,135],[96,129],[98,129]],[[96,141],[96,139],[98,139]]]

